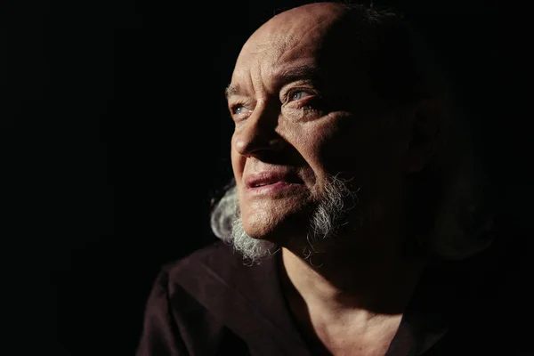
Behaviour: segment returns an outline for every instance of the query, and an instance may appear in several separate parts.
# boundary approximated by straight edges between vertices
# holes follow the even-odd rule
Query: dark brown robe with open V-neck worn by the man
[[[530,354],[521,352],[521,343],[510,331],[514,325],[506,325],[509,309],[498,304],[491,284],[484,285],[483,266],[483,256],[474,262],[431,263],[386,355]],[[146,306],[137,352],[138,356],[313,354],[282,295],[279,257],[245,265],[223,242],[162,269]]]

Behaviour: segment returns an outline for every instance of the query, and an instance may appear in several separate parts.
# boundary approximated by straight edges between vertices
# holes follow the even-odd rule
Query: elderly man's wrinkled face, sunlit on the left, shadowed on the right
[[[352,44],[332,35],[340,10],[328,6],[282,13],[256,31],[227,89],[239,209],[256,239],[305,237],[331,176],[380,209],[398,190],[396,143],[371,115],[367,79],[345,51]]]

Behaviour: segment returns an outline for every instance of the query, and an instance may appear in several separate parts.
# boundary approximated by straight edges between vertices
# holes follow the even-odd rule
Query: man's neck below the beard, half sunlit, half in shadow
[[[405,258],[396,248],[384,246],[344,246],[309,259],[282,248],[287,296],[334,317],[346,312],[359,312],[364,318],[401,314],[425,261]]]

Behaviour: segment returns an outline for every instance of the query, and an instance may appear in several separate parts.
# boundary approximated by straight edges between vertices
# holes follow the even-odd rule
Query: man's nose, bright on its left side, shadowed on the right
[[[234,131],[234,149],[242,156],[256,157],[280,152],[285,141],[276,132],[279,112],[266,106],[256,106],[254,112]]]

